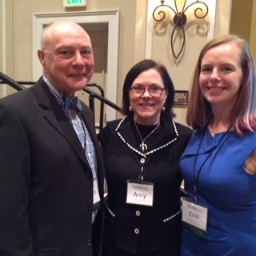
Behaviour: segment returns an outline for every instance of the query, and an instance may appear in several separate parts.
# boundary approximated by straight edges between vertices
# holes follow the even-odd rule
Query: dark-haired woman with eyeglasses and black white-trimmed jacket
[[[174,85],[146,59],[123,86],[122,114],[99,134],[108,199],[104,256],[176,256],[182,234],[179,159],[191,130],[174,122]]]

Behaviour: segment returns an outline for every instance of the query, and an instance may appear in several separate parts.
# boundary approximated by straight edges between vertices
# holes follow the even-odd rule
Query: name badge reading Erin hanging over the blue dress
[[[206,234],[208,209],[182,198],[182,222],[190,226],[198,235]]]

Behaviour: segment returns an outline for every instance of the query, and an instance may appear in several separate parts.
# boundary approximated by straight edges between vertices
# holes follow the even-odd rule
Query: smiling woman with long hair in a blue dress
[[[198,58],[180,167],[182,256],[256,255],[256,75],[247,42],[226,35]]]

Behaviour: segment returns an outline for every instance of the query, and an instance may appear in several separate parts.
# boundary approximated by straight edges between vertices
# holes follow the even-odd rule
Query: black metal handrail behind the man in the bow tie
[[[8,84],[10,86],[12,86],[14,89],[16,90],[24,90],[26,89],[25,86],[22,85],[34,85],[35,82],[26,82],[26,81],[21,81],[21,82],[16,82],[14,81],[14,79],[6,76],[6,74],[3,74],[2,72],[0,72],[0,80],[2,80],[2,82],[0,81],[0,84]],[[100,91],[100,94],[95,93],[93,90],[90,90],[88,87],[96,87],[98,88],[98,90]],[[94,98],[97,98],[101,103],[100,103],[100,121],[99,121],[99,130],[102,130],[103,128],[103,114],[104,114],[104,103],[108,106],[111,106],[112,108],[114,108],[114,110],[118,110],[120,111],[120,107],[116,104],[114,104],[113,102],[110,102],[110,100],[106,99],[104,97],[104,90],[102,89],[102,86],[98,85],[97,83],[88,83],[86,85],[86,87],[83,89],[87,94],[89,94],[89,106],[90,109],[92,110],[93,114],[94,114],[94,118],[95,118],[95,109],[94,109]]]

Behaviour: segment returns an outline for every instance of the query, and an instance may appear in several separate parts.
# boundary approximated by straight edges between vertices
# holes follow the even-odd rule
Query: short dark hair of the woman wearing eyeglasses
[[[166,110],[163,112],[168,115],[169,118],[174,118],[176,114],[174,114],[173,106],[174,106],[174,84],[170,79],[168,71],[166,67],[160,63],[155,62],[152,59],[144,59],[141,62],[135,64],[129,72],[126,74],[125,82],[122,87],[122,114],[129,115],[131,114],[129,110],[130,106],[130,87],[132,86],[135,78],[138,77],[139,74],[146,70],[154,69],[159,72],[162,77],[162,82],[166,90],[167,98],[165,102]],[[162,113],[162,114],[163,114]]]

